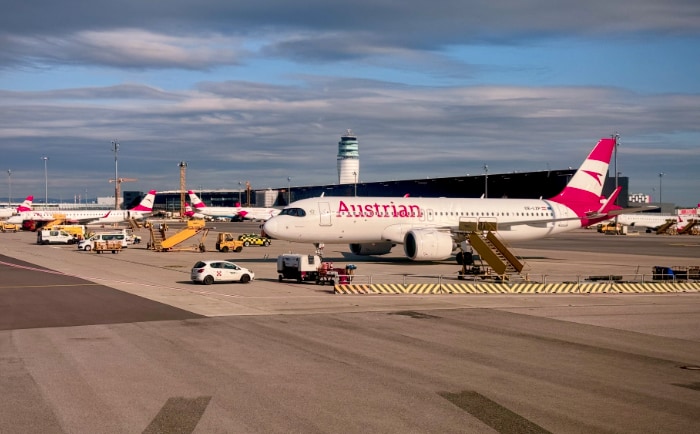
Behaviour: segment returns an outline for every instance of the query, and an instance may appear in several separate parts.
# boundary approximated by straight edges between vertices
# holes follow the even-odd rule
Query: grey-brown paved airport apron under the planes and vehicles
[[[697,238],[597,235],[515,250],[533,273],[700,257]],[[309,248],[279,241],[227,254],[256,281],[204,287],[189,268],[223,254],[33,241],[0,234],[3,433],[700,428],[697,293],[338,296],[277,282],[274,258]],[[455,269],[325,250],[365,273]]]

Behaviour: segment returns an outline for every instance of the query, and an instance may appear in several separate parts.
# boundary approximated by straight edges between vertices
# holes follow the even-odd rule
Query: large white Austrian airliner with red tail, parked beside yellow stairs
[[[386,254],[403,244],[414,261],[449,258],[462,222],[492,226],[504,241],[542,238],[622,212],[614,205],[619,187],[609,198],[601,196],[614,147],[614,139],[601,139],[562,192],[548,200],[317,197],[289,204],[263,231],[287,241],[349,243],[357,255]]]

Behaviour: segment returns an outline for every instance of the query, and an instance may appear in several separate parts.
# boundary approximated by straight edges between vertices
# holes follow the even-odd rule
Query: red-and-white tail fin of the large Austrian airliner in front
[[[598,211],[601,208],[601,200],[604,199],[603,183],[608,174],[614,148],[615,139],[600,139],[571,181],[561,193],[550,200],[571,208],[580,217]]]

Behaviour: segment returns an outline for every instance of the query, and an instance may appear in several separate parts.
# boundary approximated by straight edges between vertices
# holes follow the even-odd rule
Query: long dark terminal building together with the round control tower
[[[274,189],[217,189],[195,190],[207,206],[284,207],[290,202],[310,197],[325,196],[384,196],[402,197],[450,197],[450,198],[522,198],[538,199],[557,195],[566,186],[575,169],[547,170],[537,172],[513,172],[484,174],[478,176],[456,176],[442,178],[407,179],[399,181],[358,182],[360,175],[360,149],[357,136],[347,130],[338,142],[338,183],[329,185],[285,186]],[[620,206],[628,206],[628,184],[626,177],[619,177],[617,185],[622,187],[618,197]],[[615,189],[615,178],[607,177],[603,194],[609,196]],[[126,207],[137,204],[142,192],[125,191]],[[181,212],[180,190],[159,191],[154,209]],[[189,198],[185,196],[185,201]]]

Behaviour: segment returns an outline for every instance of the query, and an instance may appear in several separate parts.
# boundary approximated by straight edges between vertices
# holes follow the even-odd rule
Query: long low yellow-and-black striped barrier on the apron
[[[640,294],[700,292],[700,282],[369,283],[335,285],[336,294]]]

